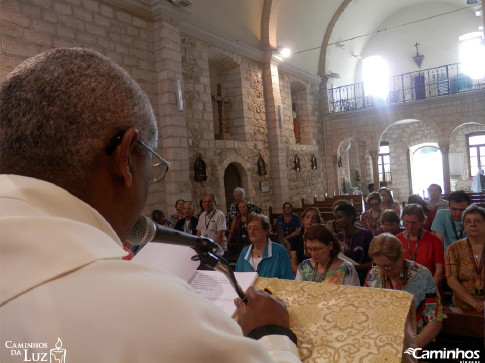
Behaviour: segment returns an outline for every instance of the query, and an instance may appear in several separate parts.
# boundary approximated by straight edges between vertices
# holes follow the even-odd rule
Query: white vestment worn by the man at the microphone
[[[49,361],[60,339],[69,363],[299,362],[286,336],[243,337],[185,281],[125,254],[64,189],[0,175],[0,361]]]

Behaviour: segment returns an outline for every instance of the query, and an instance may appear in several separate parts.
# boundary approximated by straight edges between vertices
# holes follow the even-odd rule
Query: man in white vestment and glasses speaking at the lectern
[[[175,275],[122,260],[170,166],[157,123],[133,78],[92,50],[52,49],[4,77],[0,340],[60,339],[72,362],[299,362],[283,302],[249,288],[238,325]]]

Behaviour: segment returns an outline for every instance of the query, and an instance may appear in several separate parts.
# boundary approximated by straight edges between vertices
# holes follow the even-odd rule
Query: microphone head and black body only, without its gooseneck
[[[127,241],[132,245],[147,242],[161,242],[178,246],[188,246],[197,253],[213,252],[219,254],[220,247],[207,237],[197,237],[156,224],[146,216],[140,216],[133,226]]]

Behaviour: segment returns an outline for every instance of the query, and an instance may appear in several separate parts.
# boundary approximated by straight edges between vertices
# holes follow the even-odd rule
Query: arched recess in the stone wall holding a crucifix
[[[227,55],[214,53],[208,65],[214,138],[245,141],[240,64]]]

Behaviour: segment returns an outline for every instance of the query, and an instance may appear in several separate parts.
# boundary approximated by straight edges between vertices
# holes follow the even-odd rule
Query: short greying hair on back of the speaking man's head
[[[125,70],[92,50],[50,50],[0,85],[0,172],[82,188],[110,141],[130,127],[156,147],[150,101]]]

